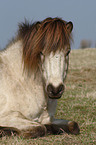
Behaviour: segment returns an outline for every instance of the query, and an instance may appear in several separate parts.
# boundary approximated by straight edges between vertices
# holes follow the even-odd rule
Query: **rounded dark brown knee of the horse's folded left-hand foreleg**
[[[20,133],[20,136],[24,138],[37,138],[44,136],[47,130],[44,125],[28,127],[28,129],[23,129]]]

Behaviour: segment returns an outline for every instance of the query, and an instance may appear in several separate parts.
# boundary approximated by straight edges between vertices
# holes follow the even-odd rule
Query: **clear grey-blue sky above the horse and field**
[[[0,0],[0,49],[15,37],[18,24],[60,17],[73,22],[72,49],[80,48],[81,40],[96,43],[96,0]]]

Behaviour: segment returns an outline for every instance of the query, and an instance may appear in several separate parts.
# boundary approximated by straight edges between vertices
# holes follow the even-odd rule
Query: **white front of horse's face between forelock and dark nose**
[[[46,86],[52,84],[54,87],[58,87],[60,84],[63,84],[65,68],[64,52],[50,53],[50,55],[46,56],[42,64]]]

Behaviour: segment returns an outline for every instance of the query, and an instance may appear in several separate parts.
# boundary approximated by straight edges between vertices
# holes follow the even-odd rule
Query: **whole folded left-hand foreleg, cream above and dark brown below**
[[[24,138],[36,138],[46,134],[46,127],[25,118],[19,112],[12,112],[0,117],[0,137],[4,135],[19,135]]]

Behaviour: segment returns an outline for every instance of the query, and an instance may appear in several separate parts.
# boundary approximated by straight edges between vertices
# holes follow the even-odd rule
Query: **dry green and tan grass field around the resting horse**
[[[72,50],[66,90],[58,102],[56,118],[75,120],[80,134],[49,135],[38,139],[3,137],[0,144],[95,145],[96,144],[96,49]]]

